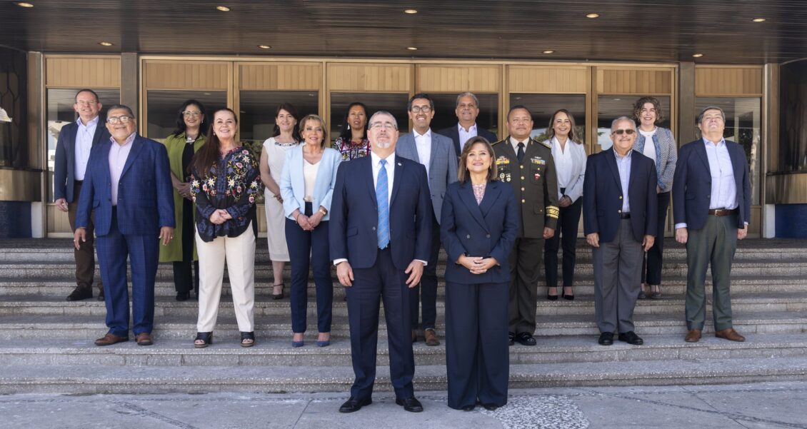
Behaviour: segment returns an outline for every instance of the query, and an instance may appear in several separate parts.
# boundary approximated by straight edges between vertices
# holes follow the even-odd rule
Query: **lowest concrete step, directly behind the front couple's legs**
[[[114,346],[113,346],[114,347]],[[636,360],[511,364],[510,388],[614,385],[706,385],[807,379],[807,358]],[[445,365],[416,367],[415,389],[445,390]],[[0,394],[157,394],[207,392],[345,392],[347,366],[2,365]],[[391,390],[378,366],[375,389]]]

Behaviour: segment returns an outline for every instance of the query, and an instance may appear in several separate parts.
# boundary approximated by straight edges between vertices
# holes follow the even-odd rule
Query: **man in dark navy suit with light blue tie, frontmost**
[[[330,247],[348,297],[350,353],[356,379],[339,409],[372,403],[378,344],[378,300],[383,299],[395,403],[420,412],[412,377],[409,290],[429,259],[432,203],[426,169],[395,156],[398,125],[386,111],[370,117],[370,156],[339,165],[331,202]]]

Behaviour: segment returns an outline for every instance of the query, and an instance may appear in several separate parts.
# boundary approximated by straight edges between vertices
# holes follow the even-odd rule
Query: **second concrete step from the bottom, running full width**
[[[6,365],[89,365],[89,366],[264,366],[303,365],[338,367],[351,365],[348,339],[333,339],[327,348],[313,344],[292,348],[290,339],[258,338],[252,348],[242,348],[237,335],[214,335],[207,348],[194,348],[192,339],[160,339],[150,347],[133,340],[110,347],[96,347],[89,340],[54,339],[44,344],[10,340],[0,346],[0,360]],[[634,347],[617,341],[611,347],[596,344],[596,335],[544,337],[537,347],[509,348],[510,364],[562,364],[573,362],[633,362],[635,360],[769,359],[804,357],[807,335],[753,334],[746,343],[735,343],[705,335],[699,343],[685,343],[683,335],[644,335],[645,344]],[[445,345],[414,344],[415,364],[445,364]],[[378,345],[378,364],[389,364],[386,342]]]

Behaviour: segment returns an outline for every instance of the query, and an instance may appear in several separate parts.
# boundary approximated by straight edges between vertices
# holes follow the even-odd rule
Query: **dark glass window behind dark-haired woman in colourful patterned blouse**
[[[387,110],[398,122],[398,131],[401,134],[409,132],[409,116],[406,104],[409,94],[378,94],[378,93],[331,93],[331,121],[328,127],[331,132],[328,138],[333,142],[342,131],[342,122],[347,115],[348,106],[352,102],[362,102],[367,106],[367,119],[376,111]]]

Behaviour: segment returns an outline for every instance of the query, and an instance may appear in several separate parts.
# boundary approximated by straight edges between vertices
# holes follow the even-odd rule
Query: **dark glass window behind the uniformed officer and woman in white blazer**
[[[584,94],[510,94],[510,106],[525,106],[533,114],[533,132],[538,141],[546,140],[546,127],[552,115],[559,109],[569,110],[575,117],[575,131],[580,136],[578,143],[586,142],[586,96]],[[504,127],[505,134],[507,127]]]

